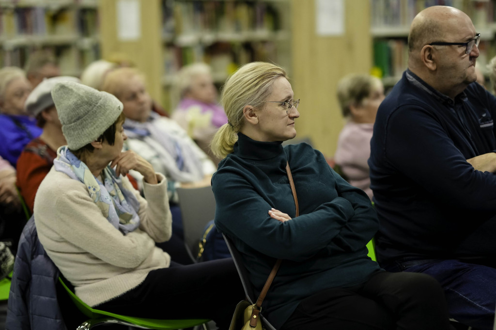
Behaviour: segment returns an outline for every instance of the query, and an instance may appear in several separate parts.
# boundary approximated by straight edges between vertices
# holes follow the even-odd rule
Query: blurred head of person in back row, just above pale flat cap
[[[53,78],[61,75],[61,69],[55,56],[46,50],[33,52],[24,66],[26,77],[31,83],[32,88],[46,78]]]

